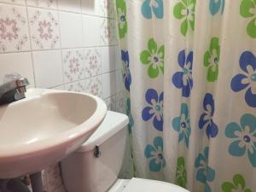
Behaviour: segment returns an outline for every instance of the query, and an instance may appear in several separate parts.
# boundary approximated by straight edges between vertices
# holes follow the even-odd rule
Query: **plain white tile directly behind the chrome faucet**
[[[31,53],[10,53],[0,55],[0,82],[3,76],[9,73],[19,73],[28,79],[30,86],[34,86],[34,75]],[[0,83],[0,84],[1,84]]]

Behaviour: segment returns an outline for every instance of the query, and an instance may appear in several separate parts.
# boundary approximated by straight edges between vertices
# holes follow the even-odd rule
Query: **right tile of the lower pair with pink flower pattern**
[[[102,55],[99,49],[84,49],[85,77],[94,77],[102,73]]]

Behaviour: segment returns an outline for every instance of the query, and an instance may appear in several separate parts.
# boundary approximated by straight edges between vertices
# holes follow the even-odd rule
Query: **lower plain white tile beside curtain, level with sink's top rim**
[[[115,73],[102,74],[102,97],[107,98],[115,95]]]

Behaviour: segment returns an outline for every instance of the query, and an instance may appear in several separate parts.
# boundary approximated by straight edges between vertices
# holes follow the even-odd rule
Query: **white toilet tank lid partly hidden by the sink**
[[[90,151],[96,147],[96,145],[101,145],[108,138],[112,137],[118,131],[125,128],[128,125],[129,119],[127,115],[123,113],[116,113],[113,111],[108,111],[105,119],[103,119],[102,124],[96,129],[96,131],[90,136],[90,138],[82,144],[75,152],[84,153]]]

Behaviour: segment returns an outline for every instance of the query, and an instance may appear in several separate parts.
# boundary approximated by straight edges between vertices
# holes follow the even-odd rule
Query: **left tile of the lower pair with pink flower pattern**
[[[65,83],[84,79],[83,49],[62,50],[62,63]]]

